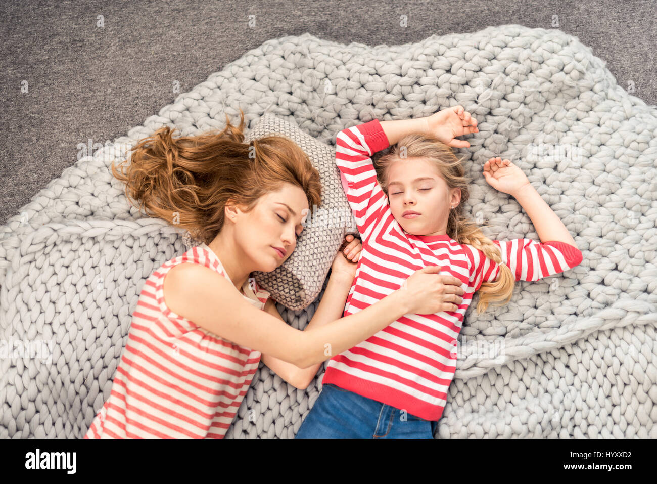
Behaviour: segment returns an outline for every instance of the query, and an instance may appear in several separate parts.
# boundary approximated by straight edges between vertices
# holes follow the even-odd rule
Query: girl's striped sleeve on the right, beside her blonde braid
[[[493,240],[501,249],[502,261],[509,266],[516,281],[537,281],[577,266],[583,259],[581,251],[560,241],[537,242],[532,239]],[[492,282],[499,275],[499,264],[482,251],[468,247],[473,270],[470,282],[478,291],[484,282]]]

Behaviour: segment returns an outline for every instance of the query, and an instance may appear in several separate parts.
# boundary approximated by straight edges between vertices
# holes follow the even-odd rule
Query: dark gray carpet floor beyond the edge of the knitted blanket
[[[81,145],[114,139],[267,39],[309,32],[341,43],[415,42],[522,24],[558,28],[607,62],[618,84],[657,104],[656,3],[474,0],[267,3],[3,1],[0,223],[72,166]],[[380,5],[380,4],[378,4]],[[454,6],[457,5],[457,9]],[[104,27],[99,28],[97,16]],[[249,26],[249,16],[255,26]],[[405,16],[406,26],[400,26]],[[253,17],[252,17],[253,18]],[[22,93],[23,81],[28,93]]]

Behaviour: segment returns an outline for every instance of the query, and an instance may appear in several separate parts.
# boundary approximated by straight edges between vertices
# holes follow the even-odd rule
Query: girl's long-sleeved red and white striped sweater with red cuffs
[[[357,222],[363,249],[344,316],[354,314],[399,289],[425,266],[441,266],[466,291],[456,311],[405,314],[369,339],[333,358],[323,383],[406,410],[426,420],[442,416],[455,372],[453,349],[472,295],[493,281],[499,264],[472,245],[449,235],[412,235],[392,216],[376,181],[371,156],[389,146],[378,120],[342,130],[336,138],[336,164]],[[566,243],[532,239],[493,241],[516,281],[536,281],[578,265],[579,249]]]

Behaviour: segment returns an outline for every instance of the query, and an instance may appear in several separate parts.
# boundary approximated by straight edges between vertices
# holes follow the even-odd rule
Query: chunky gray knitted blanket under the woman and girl
[[[394,46],[273,39],[66,168],[0,229],[0,437],[85,435],[145,279],[185,251],[182,232],[131,207],[112,178],[127,145],[164,124],[184,135],[223,128],[240,107],[251,126],[269,110],[333,143],[355,122],[457,104],[479,121],[460,151],[486,234],[539,240],[515,199],[484,181],[485,160],[501,155],[584,260],[516,283],[503,308],[477,315],[473,301],[436,437],[657,437],[656,107],[576,37],[519,25]],[[321,295],[279,310],[302,329]],[[482,351],[493,346],[501,357]],[[227,437],[294,437],[324,368],[300,390],[260,364]]]

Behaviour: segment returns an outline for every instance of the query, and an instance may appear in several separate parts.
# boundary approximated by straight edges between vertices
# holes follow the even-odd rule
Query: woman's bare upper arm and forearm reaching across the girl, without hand
[[[426,272],[424,269],[422,272]],[[324,362],[371,337],[411,312],[409,304],[413,302],[407,289],[400,288],[356,314],[299,331],[244,297],[236,297],[237,289],[230,281],[198,264],[171,268],[164,278],[164,287],[165,304],[175,314],[237,345],[271,354],[299,368]],[[433,287],[426,285],[422,291],[416,291],[420,292],[436,293],[432,297],[440,301]]]

